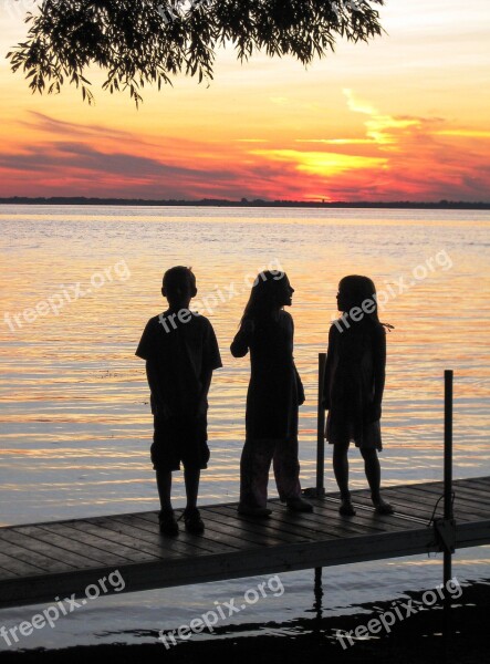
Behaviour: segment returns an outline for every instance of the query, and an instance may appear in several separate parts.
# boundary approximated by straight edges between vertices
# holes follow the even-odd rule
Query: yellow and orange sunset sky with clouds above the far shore
[[[386,31],[304,68],[218,53],[215,80],[32,95],[4,54],[32,0],[0,0],[0,197],[490,200],[488,0],[387,0]]]

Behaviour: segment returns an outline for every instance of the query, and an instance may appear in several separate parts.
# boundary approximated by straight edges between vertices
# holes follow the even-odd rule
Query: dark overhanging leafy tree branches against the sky
[[[333,51],[335,40],[380,34],[384,0],[39,0],[24,42],[8,54],[33,92],[81,89],[93,101],[88,68],[106,73],[104,90],[127,90],[138,104],[147,83],[161,87],[185,73],[212,80],[216,50],[239,60],[261,50],[303,64]]]

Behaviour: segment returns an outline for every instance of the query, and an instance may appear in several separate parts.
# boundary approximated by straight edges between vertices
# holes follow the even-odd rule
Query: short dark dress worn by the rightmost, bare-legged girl
[[[365,317],[351,326],[334,323],[329,334],[323,402],[329,409],[325,437],[329,443],[383,449],[378,416],[386,364],[386,333],[380,323]]]

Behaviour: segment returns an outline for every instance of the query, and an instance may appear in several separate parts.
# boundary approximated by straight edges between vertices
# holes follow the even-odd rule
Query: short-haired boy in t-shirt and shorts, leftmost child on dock
[[[171,473],[184,465],[186,530],[199,535],[205,526],[197,509],[201,469],[207,468],[208,392],[212,371],[222,366],[215,331],[204,315],[189,311],[197,294],[190,268],[177,266],[164,274],[161,294],[168,309],[147,322],[136,350],[146,360],[154,415],[150,448],[160,499],[159,529],[178,533],[170,501]]]

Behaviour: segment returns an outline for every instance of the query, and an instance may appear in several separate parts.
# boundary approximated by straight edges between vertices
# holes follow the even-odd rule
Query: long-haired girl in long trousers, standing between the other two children
[[[250,350],[246,443],[240,460],[239,513],[269,517],[267,488],[273,460],[279,497],[294,511],[312,511],[301,497],[298,409],[304,391],[293,360],[292,294],[283,272],[261,272],[231,344],[233,357]]]

